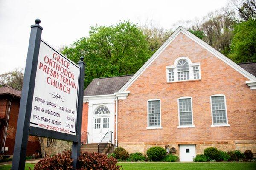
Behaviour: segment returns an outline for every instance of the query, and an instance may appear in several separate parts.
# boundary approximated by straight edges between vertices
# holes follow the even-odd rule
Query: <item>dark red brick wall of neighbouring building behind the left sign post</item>
[[[15,143],[15,134],[17,130],[17,119],[19,114],[20,98],[9,95],[2,95],[0,96],[0,107],[6,108],[6,106],[3,106],[3,104],[7,104],[7,102],[4,102],[7,99],[11,99],[12,102],[5,142],[5,147],[8,147],[8,151],[4,152],[4,154],[12,155]],[[29,136],[26,155],[32,155],[35,153],[35,151],[40,151],[40,144],[35,136]]]

